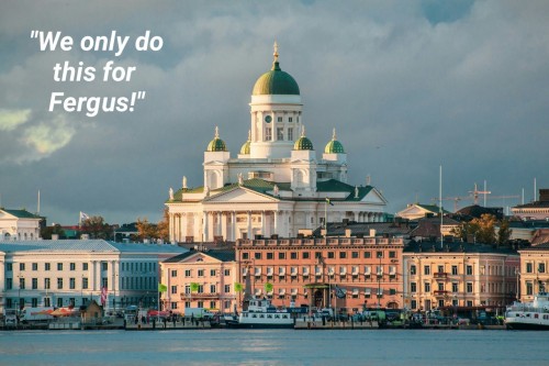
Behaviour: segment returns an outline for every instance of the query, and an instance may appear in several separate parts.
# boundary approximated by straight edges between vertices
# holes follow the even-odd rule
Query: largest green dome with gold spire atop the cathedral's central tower
[[[278,62],[278,46],[274,43],[274,62],[272,63],[272,68],[270,71],[261,75],[251,91],[253,96],[266,96],[266,95],[290,95],[299,96],[300,87],[295,79],[288,73],[280,69]]]

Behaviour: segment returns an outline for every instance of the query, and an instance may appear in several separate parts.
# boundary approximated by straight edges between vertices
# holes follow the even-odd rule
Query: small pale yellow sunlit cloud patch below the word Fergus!
[[[33,148],[27,159],[40,159],[66,146],[76,133],[65,115],[57,114],[52,121],[40,123],[25,130],[22,142]]]

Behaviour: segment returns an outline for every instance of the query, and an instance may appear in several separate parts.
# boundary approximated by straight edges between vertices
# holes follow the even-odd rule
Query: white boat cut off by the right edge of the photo
[[[549,292],[539,292],[531,302],[514,302],[507,307],[505,325],[512,330],[549,331]]]

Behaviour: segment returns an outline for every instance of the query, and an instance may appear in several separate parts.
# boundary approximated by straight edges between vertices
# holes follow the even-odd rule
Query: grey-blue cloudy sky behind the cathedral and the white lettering
[[[202,186],[215,126],[236,157],[274,41],[318,158],[335,127],[349,184],[369,176],[386,212],[435,203],[440,166],[458,209],[474,184],[492,192],[488,206],[529,202],[549,188],[548,19],[544,0],[2,1],[0,207],[36,212],[40,191],[48,224],[76,224],[80,211],[157,222],[183,176]],[[74,46],[41,51],[33,31]],[[130,37],[121,54],[80,47],[113,31]],[[135,49],[146,31],[160,49]],[[109,60],[135,67],[130,80],[103,81]],[[65,62],[93,67],[94,80],[56,81]],[[56,92],[137,91],[133,111],[49,111]]]

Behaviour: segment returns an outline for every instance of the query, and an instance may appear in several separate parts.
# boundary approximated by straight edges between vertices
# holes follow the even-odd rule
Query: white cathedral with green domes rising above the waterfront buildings
[[[324,222],[384,220],[386,200],[369,182],[347,182],[347,154],[336,140],[317,159],[305,136],[303,104],[294,78],[280,69],[274,44],[272,68],[251,91],[248,140],[236,158],[215,136],[204,152],[204,182],[169,189],[171,242],[295,237]]]

